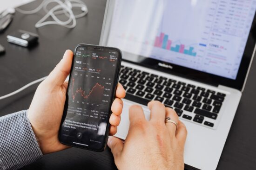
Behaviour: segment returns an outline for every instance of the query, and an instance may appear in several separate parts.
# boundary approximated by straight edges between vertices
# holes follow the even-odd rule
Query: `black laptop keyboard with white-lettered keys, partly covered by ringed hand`
[[[160,101],[166,107],[173,108],[178,116],[210,127],[214,126],[214,121],[206,121],[205,117],[216,120],[226,96],[210,89],[125,66],[121,66],[119,82],[126,90],[127,100],[146,106],[149,101]],[[185,114],[184,110],[194,113],[194,116]]]

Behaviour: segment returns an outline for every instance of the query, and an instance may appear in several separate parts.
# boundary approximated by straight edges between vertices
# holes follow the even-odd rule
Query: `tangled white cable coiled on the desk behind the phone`
[[[56,6],[47,9],[47,6],[50,3],[57,3]],[[72,9],[73,7],[80,7],[82,13],[74,15]],[[84,2],[81,0],[43,0],[38,7],[31,11],[21,10],[20,8],[16,8],[16,10],[23,14],[34,14],[38,13],[41,9],[43,9],[46,13],[43,18],[41,18],[36,24],[35,27],[39,28],[44,25],[61,25],[67,28],[74,28],[76,26],[76,19],[85,16],[88,13],[88,8]],[[57,18],[57,15],[65,14],[68,19],[66,21],[61,21]],[[45,21],[47,18],[51,17],[52,21]]]

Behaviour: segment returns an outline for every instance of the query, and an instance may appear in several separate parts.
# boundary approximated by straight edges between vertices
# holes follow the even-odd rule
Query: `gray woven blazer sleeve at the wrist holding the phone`
[[[27,110],[0,117],[0,170],[17,170],[41,157]]]

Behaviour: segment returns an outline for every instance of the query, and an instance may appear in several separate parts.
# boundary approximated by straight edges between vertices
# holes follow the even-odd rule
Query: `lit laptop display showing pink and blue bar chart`
[[[116,0],[108,46],[236,79],[256,0]]]

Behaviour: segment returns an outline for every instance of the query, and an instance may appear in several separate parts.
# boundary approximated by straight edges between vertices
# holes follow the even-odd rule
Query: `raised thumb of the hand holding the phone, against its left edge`
[[[70,73],[72,60],[73,52],[71,50],[66,50],[60,63],[56,65],[54,70],[47,77],[46,81],[53,85],[61,86]]]

